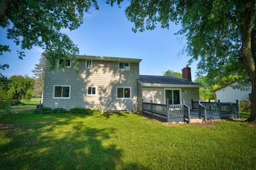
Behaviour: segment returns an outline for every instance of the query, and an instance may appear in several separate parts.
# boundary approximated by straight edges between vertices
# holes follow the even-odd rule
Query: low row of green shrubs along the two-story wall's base
[[[64,108],[40,108],[33,111],[34,114],[101,114],[100,109],[86,109],[86,108],[72,108],[70,110],[66,110]]]

